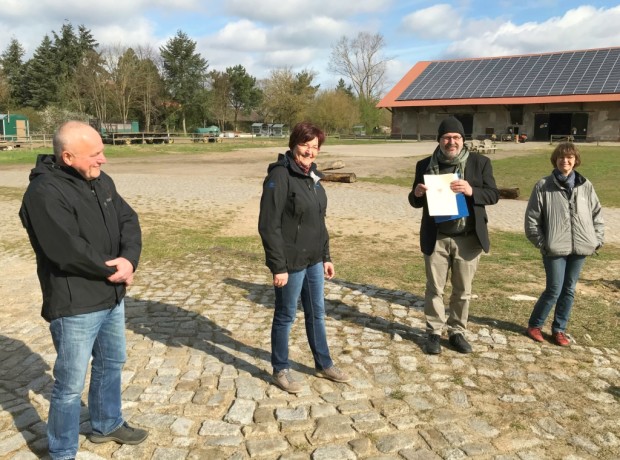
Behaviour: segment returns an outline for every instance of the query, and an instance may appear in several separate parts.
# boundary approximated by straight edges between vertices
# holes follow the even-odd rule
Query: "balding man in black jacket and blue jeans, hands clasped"
[[[39,155],[19,215],[37,259],[41,315],[57,357],[47,422],[52,459],[75,458],[81,394],[92,357],[88,408],[92,442],[138,444],[148,436],[121,412],[126,359],[126,286],[142,248],[134,210],[101,171],[101,136],[87,124],[63,124],[54,155]]]

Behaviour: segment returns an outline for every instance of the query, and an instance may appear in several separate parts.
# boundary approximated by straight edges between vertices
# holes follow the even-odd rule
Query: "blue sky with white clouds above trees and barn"
[[[322,89],[332,46],[359,32],[384,37],[386,87],[419,61],[620,46],[620,2],[575,0],[2,0],[0,53],[11,38],[25,59],[64,23],[100,46],[159,49],[183,31],[208,70],[241,64],[252,76],[310,70]]]

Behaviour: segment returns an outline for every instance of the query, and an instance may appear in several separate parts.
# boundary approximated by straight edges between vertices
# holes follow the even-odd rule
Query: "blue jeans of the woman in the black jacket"
[[[288,283],[275,288],[276,307],[271,324],[271,365],[274,372],[291,367],[288,360],[288,338],[301,296],[306,335],[317,370],[333,366],[325,332],[325,299],[323,292],[323,262],[289,272]]]

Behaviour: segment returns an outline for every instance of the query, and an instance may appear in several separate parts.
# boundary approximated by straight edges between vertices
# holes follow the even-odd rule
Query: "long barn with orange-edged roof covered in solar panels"
[[[418,62],[377,107],[397,138],[454,115],[469,139],[619,141],[620,48]]]

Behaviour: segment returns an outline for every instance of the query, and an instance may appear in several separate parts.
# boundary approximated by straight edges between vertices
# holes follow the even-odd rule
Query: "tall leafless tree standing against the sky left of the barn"
[[[352,39],[343,36],[332,46],[327,68],[349,79],[358,98],[376,99],[385,85],[388,59],[382,55],[384,46],[381,34],[360,32]]]

